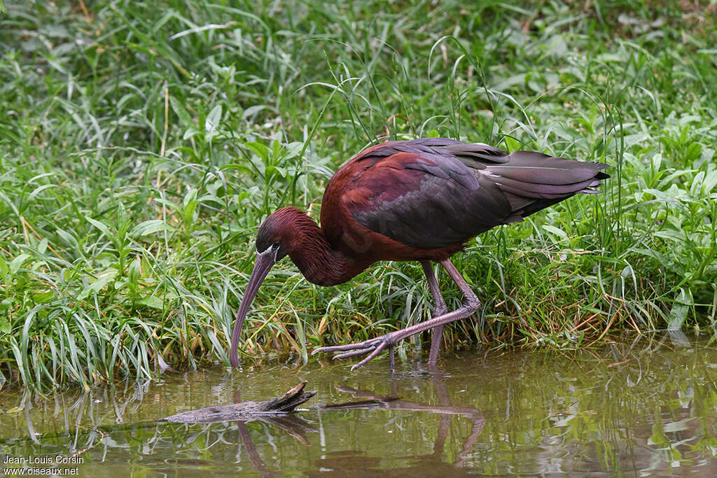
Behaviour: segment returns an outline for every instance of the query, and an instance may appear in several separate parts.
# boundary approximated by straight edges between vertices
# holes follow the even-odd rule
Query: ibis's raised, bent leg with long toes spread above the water
[[[446,272],[448,272],[448,275],[450,275],[450,278],[453,279],[453,282],[455,282],[460,291],[463,292],[463,304],[456,310],[452,312],[447,312],[443,315],[439,315],[438,317],[433,317],[431,320],[426,320],[424,322],[411,325],[410,327],[404,328],[402,330],[396,330],[395,332],[381,335],[381,337],[364,340],[363,342],[352,343],[348,345],[333,345],[331,347],[320,347],[315,349],[313,353],[343,352],[339,353],[338,355],[335,355],[334,358],[347,358],[353,357],[354,355],[363,355],[365,353],[368,353],[368,357],[364,358],[364,360],[361,360],[359,363],[356,363],[356,365],[353,365],[353,367],[351,367],[351,370],[355,370],[356,368],[361,367],[361,365],[365,365],[366,363],[368,363],[369,360],[376,357],[376,355],[379,355],[379,353],[389,347],[389,345],[394,345],[400,340],[404,340],[404,338],[410,337],[411,335],[415,335],[417,333],[422,333],[424,330],[442,327],[447,323],[465,319],[466,317],[470,317],[471,315],[473,315],[480,307],[480,300],[478,300],[478,297],[476,297],[473,291],[470,290],[470,286],[467,284],[467,282],[465,282],[465,279],[463,279],[462,275],[460,274],[460,272],[458,272],[452,262],[450,262],[450,259],[445,259],[445,261],[441,261],[441,265],[444,269],[446,269]]]

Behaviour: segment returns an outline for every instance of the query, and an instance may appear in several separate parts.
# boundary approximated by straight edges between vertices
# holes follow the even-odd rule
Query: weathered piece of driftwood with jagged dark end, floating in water
[[[229,405],[215,405],[198,410],[183,411],[181,414],[167,416],[161,421],[174,421],[183,424],[212,423],[216,421],[252,421],[267,416],[287,414],[294,408],[313,397],[315,391],[304,391],[306,381],[299,383],[284,395],[265,401],[243,401]]]

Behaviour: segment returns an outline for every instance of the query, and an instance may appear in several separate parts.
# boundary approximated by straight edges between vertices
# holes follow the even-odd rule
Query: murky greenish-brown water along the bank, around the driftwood
[[[275,360],[45,399],[4,391],[0,474],[717,476],[715,345],[660,335],[587,351],[465,349],[437,371],[416,360],[389,373],[385,357],[349,365]],[[153,421],[303,380],[317,396],[282,419]],[[72,455],[81,463],[62,463]]]

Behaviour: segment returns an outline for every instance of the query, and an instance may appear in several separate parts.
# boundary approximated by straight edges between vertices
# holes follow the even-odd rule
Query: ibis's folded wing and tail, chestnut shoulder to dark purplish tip
[[[462,244],[576,193],[595,192],[590,188],[609,177],[599,171],[607,168],[602,163],[508,154],[447,138],[383,143],[346,166],[351,187],[341,201],[353,219],[417,249]]]

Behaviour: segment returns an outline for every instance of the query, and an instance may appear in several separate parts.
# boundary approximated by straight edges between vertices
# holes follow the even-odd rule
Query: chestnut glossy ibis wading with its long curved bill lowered
[[[322,347],[336,358],[369,354],[369,362],[411,335],[433,329],[429,363],[435,363],[443,327],[473,315],[480,301],[450,262],[465,242],[500,224],[526,216],[576,193],[594,193],[609,178],[603,163],[553,158],[532,151],[505,151],[447,138],[388,141],[364,150],[333,175],[323,193],[321,226],[294,207],[278,209],[259,227],[257,259],[239,305],[229,358],[244,317],[275,262],[289,256],[314,284],[341,284],[376,261],[419,261],[434,300],[433,317],[361,343]],[[448,312],[431,262],[439,262],[463,294]],[[352,369],[353,369],[352,368]]]

